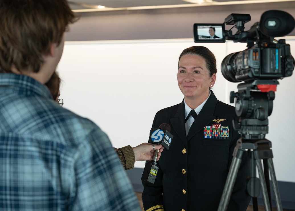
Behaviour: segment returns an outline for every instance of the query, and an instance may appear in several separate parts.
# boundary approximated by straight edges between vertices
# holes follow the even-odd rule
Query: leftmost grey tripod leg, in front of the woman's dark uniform
[[[243,153],[242,150],[238,150],[238,153],[239,152]],[[240,155],[240,157],[242,156]],[[218,211],[225,211],[227,209],[228,203],[230,201],[230,196],[232,194],[232,189],[234,187],[234,184],[237,178],[237,173],[242,162],[242,159],[240,157],[239,158],[234,157],[232,159],[232,163],[230,164],[230,171],[227,175],[221,200],[219,202]]]

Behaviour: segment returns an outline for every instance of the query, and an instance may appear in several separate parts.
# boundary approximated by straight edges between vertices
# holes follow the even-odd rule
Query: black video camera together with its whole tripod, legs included
[[[241,134],[233,153],[227,181],[224,186],[218,211],[227,209],[233,184],[237,176],[242,153],[248,152],[250,158],[250,178],[247,181],[247,192],[253,198],[253,206],[258,210],[257,197],[262,195],[266,210],[271,210],[271,194],[268,166],[276,199],[277,210],[282,210],[278,183],[273,167],[271,142],[265,139],[268,133],[268,116],[273,109],[274,92],[279,84],[278,79],[289,77],[294,70],[294,58],[290,45],[285,39],[275,40],[289,34],[295,26],[294,17],[280,10],[269,10],[262,14],[260,22],[256,22],[248,31],[244,24],[251,20],[249,14],[230,14],[223,24],[194,24],[194,41],[197,42],[234,42],[247,43],[244,51],[231,53],[221,64],[222,75],[230,82],[238,84],[238,92],[230,93],[230,103],[235,102],[235,111],[240,117],[233,121],[233,127]],[[225,30],[225,24],[234,25]],[[210,36],[209,36],[210,35]],[[263,159],[264,176],[260,159]],[[259,179],[256,178],[256,168]]]

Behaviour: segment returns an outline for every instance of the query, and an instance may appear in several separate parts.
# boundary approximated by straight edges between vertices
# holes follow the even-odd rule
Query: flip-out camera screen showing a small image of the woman
[[[195,23],[195,43],[225,43],[224,24]]]

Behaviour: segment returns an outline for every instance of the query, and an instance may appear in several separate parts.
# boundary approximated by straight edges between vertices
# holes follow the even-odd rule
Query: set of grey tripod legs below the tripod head
[[[270,149],[271,142],[267,139],[260,139],[253,142],[242,142],[242,138],[237,140],[237,145],[233,152],[233,159],[230,165],[230,170],[227,175],[227,180],[222,192],[222,197],[219,202],[218,211],[225,211],[227,209],[230,196],[237,178],[237,173],[242,162],[242,155],[244,152],[250,153],[250,179],[247,183],[248,194],[253,198],[253,210],[258,210],[257,197],[260,193],[259,181],[263,195],[263,201],[266,211],[271,211],[271,194],[269,188],[269,175],[268,170],[271,175],[271,182],[274,190],[274,196],[276,201],[276,207],[278,211],[283,210],[281,204],[281,198],[278,190],[278,182],[276,180],[276,175],[273,166],[273,153]],[[249,156],[249,154],[248,154]],[[261,159],[264,163],[264,174],[261,164]],[[259,178],[256,178],[256,167],[258,170]],[[269,167],[269,168],[268,168]],[[255,206],[254,206],[255,205]]]

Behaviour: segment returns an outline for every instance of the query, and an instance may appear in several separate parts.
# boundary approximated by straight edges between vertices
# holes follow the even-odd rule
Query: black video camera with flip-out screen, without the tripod
[[[294,18],[286,12],[269,10],[262,14],[248,31],[244,24],[251,20],[249,14],[230,14],[223,24],[194,24],[195,42],[234,42],[247,43],[248,49],[231,53],[221,65],[223,76],[230,82],[253,81],[255,79],[281,79],[292,75],[294,59],[290,45],[285,40],[274,40],[289,34],[295,25]],[[234,25],[237,33],[232,35],[232,28],[224,30],[224,24]],[[215,28],[215,35],[220,38],[208,39],[210,27]]]

